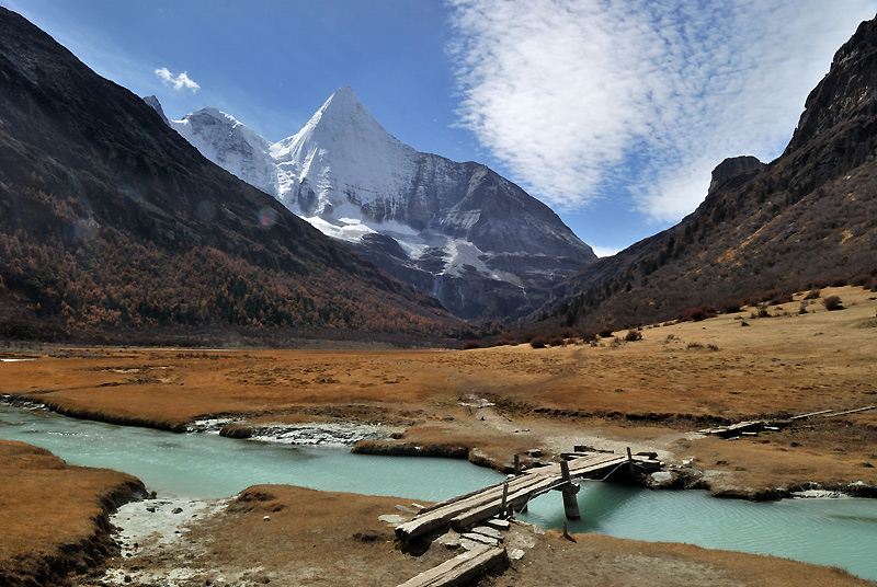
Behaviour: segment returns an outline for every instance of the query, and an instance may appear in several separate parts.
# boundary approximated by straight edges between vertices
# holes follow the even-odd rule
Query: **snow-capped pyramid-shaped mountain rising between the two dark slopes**
[[[169,124],[210,161],[463,318],[532,311],[596,258],[554,211],[487,166],[392,137],[350,88],[274,143],[214,108]]]

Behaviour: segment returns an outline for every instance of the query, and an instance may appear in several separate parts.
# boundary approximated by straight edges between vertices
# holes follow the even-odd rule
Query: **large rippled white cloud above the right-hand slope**
[[[459,116],[563,209],[626,194],[661,222],[726,157],[776,157],[874,0],[451,0]]]

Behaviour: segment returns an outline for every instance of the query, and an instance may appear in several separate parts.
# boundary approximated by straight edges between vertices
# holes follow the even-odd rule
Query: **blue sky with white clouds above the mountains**
[[[693,211],[724,158],[777,157],[834,51],[877,12],[877,0],[0,5],[172,118],[218,107],[276,141],[350,85],[397,138],[488,164],[599,254]]]

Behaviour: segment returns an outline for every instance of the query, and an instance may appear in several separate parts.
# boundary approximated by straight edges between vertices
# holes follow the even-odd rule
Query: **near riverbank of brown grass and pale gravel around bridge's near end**
[[[195,507],[159,499],[123,508],[114,518],[123,533],[144,520],[174,521],[170,531],[128,534],[125,542],[137,546],[77,586],[400,585],[462,550],[453,533],[401,549],[394,525],[413,509],[405,498],[262,485]],[[874,585],[838,568],[687,544],[596,534],[573,534],[572,542],[521,523],[503,534],[510,567],[482,585],[576,585],[582,577],[595,585]]]

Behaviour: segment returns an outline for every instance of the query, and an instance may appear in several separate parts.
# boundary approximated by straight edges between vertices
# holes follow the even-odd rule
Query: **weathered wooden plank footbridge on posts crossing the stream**
[[[630,449],[626,456],[568,453],[566,457],[570,460],[529,469],[496,485],[425,507],[413,520],[398,526],[396,536],[409,541],[448,527],[463,530],[488,518],[521,511],[527,502],[549,491],[562,493],[568,519],[579,519],[576,498],[579,486],[573,481],[605,479],[623,468],[634,472],[656,471],[661,467],[653,453],[631,454]]]

